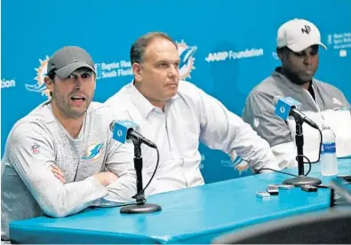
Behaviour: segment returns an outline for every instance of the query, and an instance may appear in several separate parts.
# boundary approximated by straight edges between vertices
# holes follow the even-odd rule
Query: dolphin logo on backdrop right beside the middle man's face
[[[178,52],[179,52],[179,79],[185,79],[187,77],[191,78],[190,73],[195,69],[194,62],[195,58],[193,57],[195,51],[197,50],[196,46],[188,46],[184,40],[177,42]]]

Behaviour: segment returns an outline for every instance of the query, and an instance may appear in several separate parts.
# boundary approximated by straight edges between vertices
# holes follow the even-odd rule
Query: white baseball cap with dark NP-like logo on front
[[[289,20],[278,29],[276,37],[276,46],[278,48],[288,47],[291,51],[299,52],[315,44],[327,49],[321,43],[321,33],[318,28],[307,20]]]

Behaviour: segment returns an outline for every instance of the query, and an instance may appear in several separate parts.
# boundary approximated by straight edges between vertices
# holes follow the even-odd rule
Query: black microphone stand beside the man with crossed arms
[[[125,206],[120,211],[124,214],[137,214],[137,213],[152,213],[161,210],[161,206],[147,202],[144,192],[142,191],[142,156],[141,156],[141,139],[132,138],[134,144],[134,168],[137,174],[137,194],[135,196],[136,204]]]

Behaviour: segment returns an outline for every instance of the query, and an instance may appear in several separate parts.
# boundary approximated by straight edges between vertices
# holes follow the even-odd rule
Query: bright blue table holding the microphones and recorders
[[[307,168],[306,168],[307,169]],[[297,173],[297,169],[290,170]],[[339,174],[351,173],[351,159],[339,160]],[[320,177],[319,166],[312,177]],[[330,205],[330,190],[282,190],[269,201],[255,196],[287,175],[268,173],[150,196],[161,212],[121,214],[119,208],[85,209],[71,217],[36,217],[10,225],[19,243],[209,243],[221,233]],[[331,178],[322,178],[328,184]]]

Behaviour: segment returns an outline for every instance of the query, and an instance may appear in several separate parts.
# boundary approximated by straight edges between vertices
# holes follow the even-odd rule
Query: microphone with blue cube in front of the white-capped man
[[[315,122],[299,111],[301,108],[301,103],[299,103],[299,101],[296,99],[292,99],[291,97],[283,98],[283,96],[278,95],[275,96],[273,102],[275,104],[275,115],[278,115],[284,121],[288,120],[288,117],[291,115],[295,118],[295,120],[305,122],[312,128],[319,130],[319,127]]]

